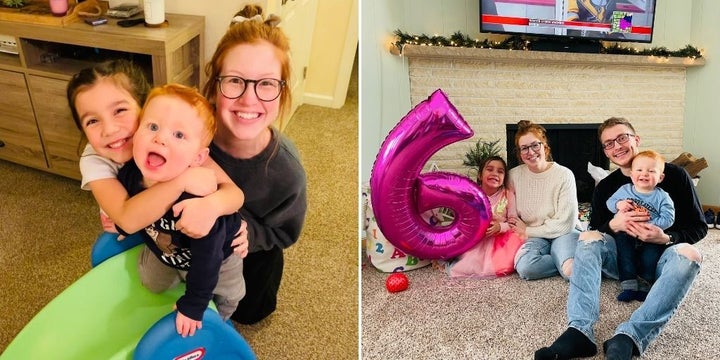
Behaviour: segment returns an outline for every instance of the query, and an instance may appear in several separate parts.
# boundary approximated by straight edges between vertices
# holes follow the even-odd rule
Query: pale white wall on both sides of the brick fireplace
[[[361,2],[361,181],[369,180],[385,136],[411,110],[406,59],[388,52],[392,32],[400,29],[447,37],[460,31],[483,38],[478,15],[477,0]],[[716,146],[720,125],[713,117],[720,94],[720,64],[713,59],[719,55],[720,34],[714,26],[719,18],[720,2],[714,0],[657,0],[653,42],[644,45],[676,50],[691,44],[705,51],[706,65],[688,71],[683,147],[708,161],[709,168],[700,173],[698,193],[702,203],[715,205],[720,205],[720,148]]]

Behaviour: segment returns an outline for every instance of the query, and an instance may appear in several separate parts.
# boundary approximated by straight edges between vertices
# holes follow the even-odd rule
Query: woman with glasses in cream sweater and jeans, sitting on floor
[[[509,223],[527,238],[515,256],[515,270],[525,280],[558,274],[568,279],[580,234],[575,176],[552,161],[540,125],[520,121],[515,148],[522,164],[509,175],[518,218]]]

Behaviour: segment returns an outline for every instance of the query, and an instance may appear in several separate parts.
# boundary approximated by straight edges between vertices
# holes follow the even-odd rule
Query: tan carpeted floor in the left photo
[[[259,359],[358,358],[357,86],[356,65],[343,108],[303,105],[286,128],[307,171],[309,208],[285,252],[277,311],[237,326]],[[102,229],[92,195],[79,187],[0,160],[0,352],[90,270]]]

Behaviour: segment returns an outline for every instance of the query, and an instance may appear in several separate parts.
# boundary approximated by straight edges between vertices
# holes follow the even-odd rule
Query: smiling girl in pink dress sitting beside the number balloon
[[[505,186],[506,168],[505,160],[499,156],[483,162],[478,182],[490,200],[493,219],[483,239],[448,264],[446,271],[451,277],[494,278],[513,272],[515,253],[523,239],[508,224],[517,213],[515,195]]]

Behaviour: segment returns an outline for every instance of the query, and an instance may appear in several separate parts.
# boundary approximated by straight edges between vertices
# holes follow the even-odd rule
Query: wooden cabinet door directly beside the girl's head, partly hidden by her
[[[28,87],[50,171],[80,179],[78,161],[84,144],[68,107],[66,86],[66,80],[28,75]]]

